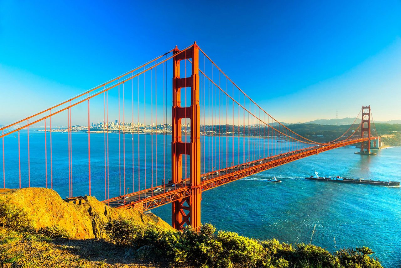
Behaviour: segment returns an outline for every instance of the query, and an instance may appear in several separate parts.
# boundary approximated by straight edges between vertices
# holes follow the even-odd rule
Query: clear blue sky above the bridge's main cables
[[[0,1],[0,124],[198,45],[284,122],[401,119],[400,1]]]

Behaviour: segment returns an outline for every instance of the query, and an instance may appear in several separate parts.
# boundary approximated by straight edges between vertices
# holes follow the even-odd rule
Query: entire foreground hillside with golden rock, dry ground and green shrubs
[[[87,203],[81,205],[67,204],[53,194],[39,188],[0,194],[0,262],[4,267],[381,267],[366,247],[330,253],[312,244],[259,241],[217,231],[210,224],[198,231],[176,231],[154,215],[112,209],[93,197],[85,197]],[[36,215],[39,210],[33,207],[40,203],[48,209]],[[66,211],[74,219],[63,225],[55,219],[63,219]],[[100,211],[107,216],[99,215]],[[43,220],[40,224],[38,217]],[[77,226],[88,220],[97,231],[85,233]]]

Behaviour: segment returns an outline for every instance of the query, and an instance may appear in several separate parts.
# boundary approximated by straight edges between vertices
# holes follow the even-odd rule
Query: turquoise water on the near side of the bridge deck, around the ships
[[[385,267],[401,265],[401,188],[324,183],[320,175],[401,181],[401,147],[376,156],[345,147],[278,166],[206,191],[202,221],[257,239],[312,243],[334,252],[368,246]],[[281,183],[269,183],[276,176]],[[169,205],[152,210],[168,223]],[[335,243],[334,243],[335,240]]]

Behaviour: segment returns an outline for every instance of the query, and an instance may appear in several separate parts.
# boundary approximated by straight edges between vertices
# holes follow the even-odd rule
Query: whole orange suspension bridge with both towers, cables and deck
[[[3,187],[95,191],[107,205],[140,211],[171,203],[172,226],[196,228],[203,191],[357,142],[369,154],[371,116],[363,106],[340,137],[312,141],[257,105],[194,43],[1,127]]]

